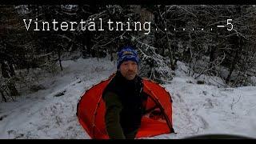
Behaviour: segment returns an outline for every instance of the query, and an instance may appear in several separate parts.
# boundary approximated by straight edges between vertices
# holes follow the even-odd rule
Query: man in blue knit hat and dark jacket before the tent
[[[103,91],[105,124],[110,138],[134,139],[145,111],[142,78],[138,76],[138,53],[131,46],[118,52],[117,72]]]

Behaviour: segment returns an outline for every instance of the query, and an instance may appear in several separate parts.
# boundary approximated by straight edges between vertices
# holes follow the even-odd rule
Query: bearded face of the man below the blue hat
[[[127,80],[133,80],[138,73],[138,65],[134,61],[122,62],[120,72]]]

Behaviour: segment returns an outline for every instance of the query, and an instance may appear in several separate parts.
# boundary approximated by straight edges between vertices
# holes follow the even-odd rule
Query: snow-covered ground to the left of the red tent
[[[0,138],[89,138],[77,121],[78,99],[95,82],[108,78],[114,63],[78,59],[63,62],[63,67],[61,74],[47,78],[47,90],[1,103]]]

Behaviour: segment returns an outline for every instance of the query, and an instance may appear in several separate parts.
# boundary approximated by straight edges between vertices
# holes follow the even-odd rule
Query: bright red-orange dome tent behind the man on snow
[[[102,99],[102,92],[113,77],[114,74],[86,90],[78,102],[78,121],[91,138],[109,138],[104,121],[106,108]],[[142,126],[139,128],[136,138],[174,133],[170,94],[157,82],[145,78],[142,82],[143,92],[148,95],[147,113],[142,117]]]

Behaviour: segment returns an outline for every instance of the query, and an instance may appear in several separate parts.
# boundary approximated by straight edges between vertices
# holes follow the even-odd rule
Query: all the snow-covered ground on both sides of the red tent
[[[68,60],[57,75],[37,75],[44,90],[22,94],[17,102],[0,103],[0,138],[90,138],[78,123],[76,106],[85,90],[115,71],[115,63],[108,59]],[[199,85],[186,77],[182,62],[178,66],[171,83],[163,85],[174,101],[173,123],[178,134],[153,138],[199,134],[256,138],[256,86]]]

